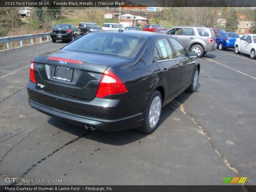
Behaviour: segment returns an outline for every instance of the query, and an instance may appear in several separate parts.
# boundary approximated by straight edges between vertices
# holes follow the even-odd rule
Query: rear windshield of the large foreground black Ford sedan
[[[144,39],[144,37],[123,34],[89,33],[79,38],[79,40],[68,44],[63,50],[132,58],[140,48]]]

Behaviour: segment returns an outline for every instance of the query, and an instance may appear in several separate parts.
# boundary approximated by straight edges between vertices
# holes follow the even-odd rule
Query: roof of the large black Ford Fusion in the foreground
[[[137,31],[137,30],[122,30],[122,32],[119,32],[119,30],[107,30],[107,31],[97,31],[92,33],[113,33],[113,34],[124,34],[124,35],[130,35],[130,36],[140,36],[140,37],[168,36],[166,34],[159,34],[159,33],[149,32],[149,31]],[[168,36],[168,37],[172,37],[172,36]]]

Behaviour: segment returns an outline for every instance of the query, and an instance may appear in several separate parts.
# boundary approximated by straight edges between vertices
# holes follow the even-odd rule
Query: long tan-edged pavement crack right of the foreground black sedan
[[[207,133],[207,131],[204,129],[203,126],[201,126],[198,121],[196,120],[196,117],[193,116],[192,114],[189,114],[188,112],[185,111],[184,109],[184,105],[181,104],[180,102],[176,101],[177,104],[179,104],[180,106],[180,110],[184,115],[187,115],[191,121],[196,125],[196,127],[199,128],[200,133],[202,133],[208,140],[210,146],[212,147],[212,149],[220,156],[220,158],[222,159],[223,163],[226,165],[226,167],[231,170],[232,172],[234,172],[237,176],[240,177],[240,173],[238,172],[238,170],[236,170],[236,168],[231,167],[230,163],[228,162],[228,159],[220,153],[220,150],[213,144],[212,139],[210,137],[210,135]]]

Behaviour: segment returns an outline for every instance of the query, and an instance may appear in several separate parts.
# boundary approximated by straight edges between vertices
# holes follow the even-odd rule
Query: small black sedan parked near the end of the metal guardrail
[[[51,29],[52,42],[56,40],[73,41],[75,38],[80,36],[78,28],[72,24],[57,24]]]

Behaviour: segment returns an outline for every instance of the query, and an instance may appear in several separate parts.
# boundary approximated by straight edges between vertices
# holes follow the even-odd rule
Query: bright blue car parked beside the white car
[[[219,32],[216,34],[216,44],[219,50],[225,48],[234,48],[236,39],[239,38],[239,35],[231,32]]]

